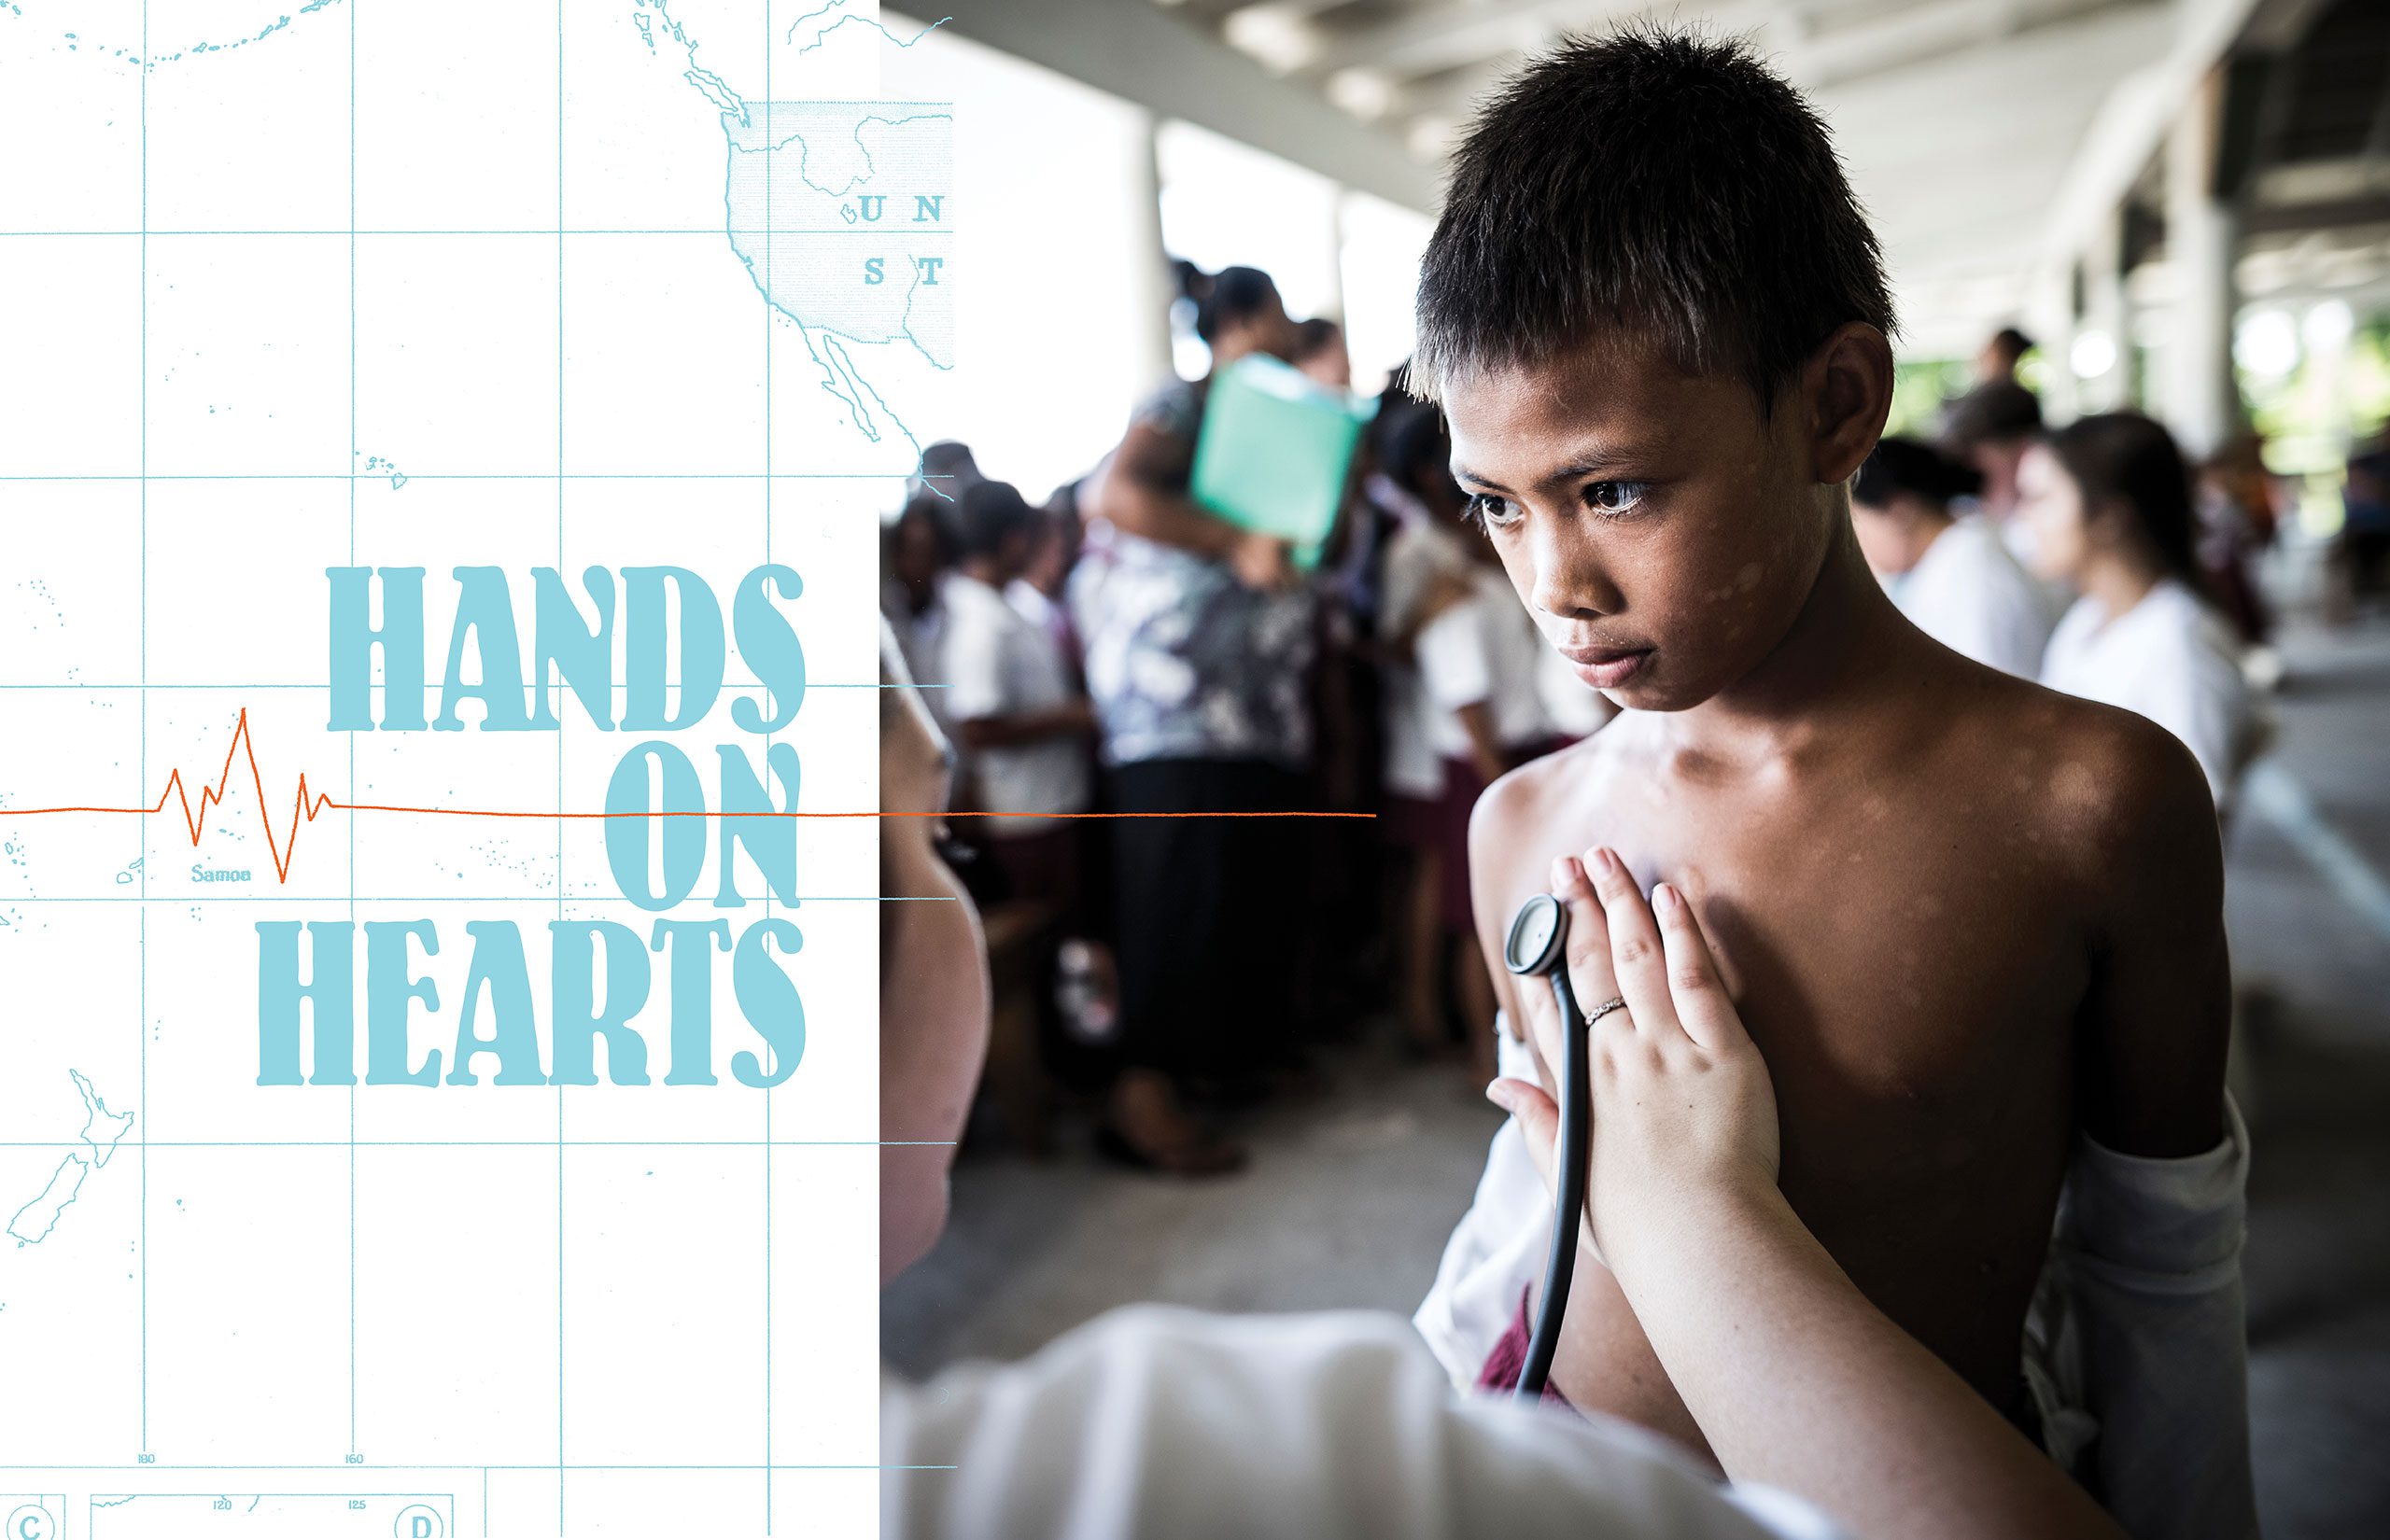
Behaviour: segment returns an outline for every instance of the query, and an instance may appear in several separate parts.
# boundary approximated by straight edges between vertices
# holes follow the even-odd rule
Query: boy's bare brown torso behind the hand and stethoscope
[[[1506,831],[1508,903],[1597,843],[1644,888],[1675,883],[1766,1055],[1792,1208],[1869,1299],[2012,1406],[2089,986],[2086,900],[2032,809],[1948,769],[1773,795],[1573,769],[1537,828]],[[1594,1287],[1587,1308],[1597,1378],[1618,1387],[1601,1406],[1699,1447],[1675,1394],[1640,1378],[1659,1370],[1623,1296]]]

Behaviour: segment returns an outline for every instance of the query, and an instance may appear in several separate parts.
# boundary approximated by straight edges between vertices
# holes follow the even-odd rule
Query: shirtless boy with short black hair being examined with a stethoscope
[[[1518,1022],[1501,936],[1556,855],[1683,893],[1776,1074],[1792,1208],[2032,1430],[2077,1132],[2225,1136],[2223,862],[2182,745],[1948,652],[1869,575],[1847,480],[1890,329],[1824,124],[1745,48],[1573,41],[1484,107],[1412,377],[1544,640],[1625,712],[1484,795],[1475,907]],[[1706,1454],[1597,1263],[1554,1382]]]

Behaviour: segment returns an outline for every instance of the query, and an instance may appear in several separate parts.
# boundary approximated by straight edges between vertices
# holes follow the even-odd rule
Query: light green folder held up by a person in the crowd
[[[1250,353],[1212,380],[1190,492],[1228,523],[1279,535],[1312,568],[1336,525],[1377,401]]]

